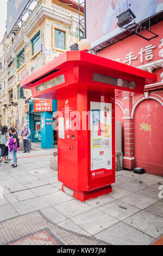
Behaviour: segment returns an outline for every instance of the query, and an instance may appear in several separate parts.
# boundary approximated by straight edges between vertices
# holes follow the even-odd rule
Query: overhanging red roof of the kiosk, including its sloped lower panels
[[[79,67],[84,71],[74,74],[71,67]],[[82,68],[83,67],[83,68]],[[81,70],[80,69],[80,70]],[[92,76],[101,74],[104,77],[103,81],[93,80]],[[58,84],[57,86],[52,86],[52,88],[47,88],[43,92],[37,92],[36,86],[43,84],[45,81],[50,81],[59,75],[65,74],[65,83]],[[111,79],[117,78],[118,80],[127,80],[138,82],[135,89],[124,88],[123,85],[117,86],[114,83],[109,83],[105,80],[106,77]],[[53,99],[57,99],[57,90],[64,88],[73,83],[79,83],[80,89],[83,88],[84,83],[87,86],[87,90],[101,90],[101,92],[109,90],[109,88],[115,89],[115,93],[118,96],[134,95],[137,93],[143,93],[145,84],[150,84],[156,82],[157,76],[150,72],[134,68],[126,64],[115,62],[107,58],[96,56],[94,54],[84,52],[84,51],[67,51],[61,54],[59,57],[55,58],[51,62],[42,66],[40,69],[33,72],[33,74],[21,80],[21,87],[26,89],[32,89],[33,96],[43,97],[46,99],[52,99],[49,92],[53,91]],[[127,91],[127,92],[124,92]],[[51,94],[52,95],[52,94]]]

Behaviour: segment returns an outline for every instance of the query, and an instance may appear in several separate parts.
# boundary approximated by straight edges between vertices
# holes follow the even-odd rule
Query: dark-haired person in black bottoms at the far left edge
[[[7,155],[8,155],[8,151],[9,151],[9,149],[8,149],[8,137],[9,137],[8,126],[4,125],[2,127],[2,131],[0,132],[0,148],[1,148],[1,160],[0,160],[0,163],[4,159],[4,164],[9,163],[6,160]]]

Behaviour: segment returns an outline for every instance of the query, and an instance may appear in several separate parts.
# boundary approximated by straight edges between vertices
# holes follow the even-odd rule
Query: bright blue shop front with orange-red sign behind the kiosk
[[[32,142],[51,149],[57,144],[57,100],[33,100],[26,108],[27,126]]]

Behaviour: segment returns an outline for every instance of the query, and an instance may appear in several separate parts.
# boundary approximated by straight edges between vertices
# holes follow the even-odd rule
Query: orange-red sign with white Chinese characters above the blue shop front
[[[34,112],[52,111],[52,100],[34,100]]]

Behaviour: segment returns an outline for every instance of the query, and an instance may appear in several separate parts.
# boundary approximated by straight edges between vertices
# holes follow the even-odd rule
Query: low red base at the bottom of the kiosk
[[[105,187],[98,188],[96,190],[91,190],[91,191],[75,191],[65,186],[64,184],[62,184],[62,192],[65,192],[69,196],[84,202],[86,200],[90,200],[96,197],[104,196],[104,194],[111,193],[112,187],[111,185],[107,185]]]

